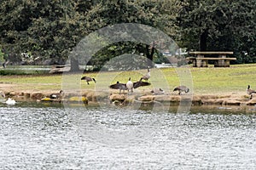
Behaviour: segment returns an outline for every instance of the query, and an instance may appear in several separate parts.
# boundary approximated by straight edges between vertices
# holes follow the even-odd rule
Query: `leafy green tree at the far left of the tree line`
[[[0,9],[1,48],[9,56],[29,52],[63,64],[80,36],[87,34],[76,1],[3,0]]]

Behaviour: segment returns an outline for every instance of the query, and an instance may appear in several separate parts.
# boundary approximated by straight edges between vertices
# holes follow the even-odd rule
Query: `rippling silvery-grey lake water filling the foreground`
[[[0,105],[0,169],[255,169],[256,115]]]

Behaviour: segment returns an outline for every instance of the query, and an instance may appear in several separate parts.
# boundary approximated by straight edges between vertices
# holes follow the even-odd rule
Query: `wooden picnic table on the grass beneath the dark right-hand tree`
[[[189,54],[195,55],[195,57],[188,57],[187,60],[192,62],[194,67],[207,67],[209,60],[214,60],[214,67],[229,67],[230,60],[236,60],[236,58],[227,58],[228,54],[233,52],[224,51],[193,51]],[[218,57],[205,57],[205,55],[218,55]]]

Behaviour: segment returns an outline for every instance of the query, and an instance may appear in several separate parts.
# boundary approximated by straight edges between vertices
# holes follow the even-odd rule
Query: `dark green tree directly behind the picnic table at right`
[[[183,46],[201,51],[234,51],[238,62],[247,62],[241,54],[253,46],[255,8],[254,0],[188,0],[178,18]]]

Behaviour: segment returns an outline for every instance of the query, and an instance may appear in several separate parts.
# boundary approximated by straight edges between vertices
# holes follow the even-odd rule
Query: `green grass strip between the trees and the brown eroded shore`
[[[189,72],[188,72],[189,71]],[[108,90],[111,83],[127,82],[131,77],[132,81],[139,80],[147,71],[111,71],[111,72],[89,72],[83,74],[88,77],[95,77],[97,83],[79,80],[82,74],[69,74],[64,76],[71,79],[69,83],[79,83],[83,89]],[[229,68],[163,68],[152,69],[149,82],[151,88],[170,88],[171,90],[180,84],[177,72],[184,72],[193,80],[194,94],[246,94],[245,89],[250,84],[256,89],[256,64],[252,65],[231,65]],[[62,87],[62,75],[20,75],[1,76],[0,90],[45,90],[55,91]],[[74,82],[75,81],[75,82]],[[66,82],[65,82],[66,83]],[[166,87],[166,84],[168,87]],[[148,87],[144,87],[148,88]]]

